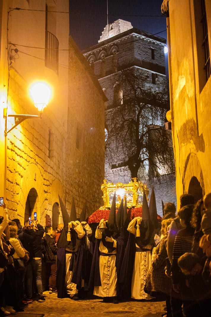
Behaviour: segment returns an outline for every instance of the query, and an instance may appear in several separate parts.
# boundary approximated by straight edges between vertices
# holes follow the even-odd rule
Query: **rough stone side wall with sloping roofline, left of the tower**
[[[102,205],[101,184],[104,179],[105,132],[104,103],[94,74],[87,72],[89,64],[84,56],[73,49],[70,38],[69,63],[69,107],[68,107],[68,151],[67,151],[67,196],[75,198],[80,214],[85,200],[89,214]],[[75,46],[74,46],[75,47]],[[84,63],[80,61],[84,59]],[[80,75],[79,75],[80,74]],[[101,89],[100,85],[99,88]],[[77,128],[81,133],[77,148]],[[71,201],[67,199],[67,208]]]

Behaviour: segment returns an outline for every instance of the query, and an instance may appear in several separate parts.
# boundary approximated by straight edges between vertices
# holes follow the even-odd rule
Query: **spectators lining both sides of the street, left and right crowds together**
[[[57,242],[64,225],[55,231],[33,220],[22,228],[19,219],[9,221],[5,205],[3,209],[0,316],[8,316],[34,300],[44,302],[44,290],[57,293]],[[192,195],[182,195],[177,216],[175,204],[165,204],[159,236],[144,291],[152,298],[164,296],[164,317],[210,317],[211,193],[196,203]]]

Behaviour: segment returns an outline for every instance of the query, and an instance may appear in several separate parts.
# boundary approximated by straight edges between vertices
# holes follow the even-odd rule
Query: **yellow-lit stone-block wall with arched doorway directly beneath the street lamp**
[[[26,82],[15,69],[10,69],[9,111],[36,114],[27,94]],[[45,224],[45,214],[51,216],[58,193],[62,195],[65,190],[65,131],[61,129],[61,133],[58,125],[50,110],[45,109],[42,119],[25,120],[8,133],[6,203],[10,219],[18,217],[23,224],[28,193],[35,189],[37,205],[34,211],[37,211],[40,223]],[[54,135],[51,158],[49,131]]]

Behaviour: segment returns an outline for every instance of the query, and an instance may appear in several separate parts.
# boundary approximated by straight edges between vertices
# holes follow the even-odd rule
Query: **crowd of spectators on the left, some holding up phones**
[[[0,316],[23,312],[34,300],[44,302],[44,290],[56,289],[56,239],[57,231],[41,226],[37,220],[22,227],[19,219],[9,221],[8,210],[3,205],[0,216]],[[42,281],[42,276],[44,279]],[[46,285],[44,281],[46,280]]]

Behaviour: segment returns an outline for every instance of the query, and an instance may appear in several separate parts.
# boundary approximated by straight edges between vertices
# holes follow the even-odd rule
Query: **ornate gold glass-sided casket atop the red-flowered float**
[[[138,181],[138,178],[134,177],[128,184],[122,183],[107,183],[107,180],[103,180],[101,190],[103,192],[104,205],[100,209],[107,209],[111,207],[114,193],[116,192],[116,208],[119,207],[122,198],[127,198],[127,207],[141,207],[143,199],[143,189],[146,193],[146,198],[149,194],[149,189],[142,182]]]

